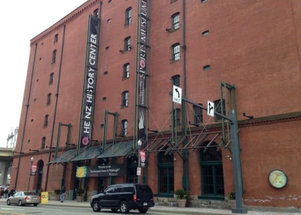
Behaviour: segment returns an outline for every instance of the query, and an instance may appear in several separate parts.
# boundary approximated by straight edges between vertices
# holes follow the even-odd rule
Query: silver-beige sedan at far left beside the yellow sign
[[[22,206],[25,204],[33,204],[34,206],[37,206],[39,203],[41,203],[41,196],[35,192],[28,191],[16,192],[7,200],[7,205],[18,204],[19,206]]]

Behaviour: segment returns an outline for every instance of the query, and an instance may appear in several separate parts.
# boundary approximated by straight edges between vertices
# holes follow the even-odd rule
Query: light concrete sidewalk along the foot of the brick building
[[[0,199],[0,202],[6,202],[7,199]],[[87,207],[92,210],[90,202],[77,202],[76,200],[65,200],[64,202],[49,200],[48,205],[72,206],[72,207]],[[297,208],[269,208],[269,207],[247,207],[249,215],[300,215]],[[269,210],[269,211],[267,211]],[[276,210],[276,211],[270,211]],[[149,211],[171,212],[175,214],[196,214],[196,215],[225,215],[225,214],[240,214],[232,213],[231,209],[212,209],[212,208],[196,208],[196,207],[172,207],[172,206],[157,206],[150,207]],[[288,212],[292,211],[292,212]],[[147,213],[146,213],[147,214]]]

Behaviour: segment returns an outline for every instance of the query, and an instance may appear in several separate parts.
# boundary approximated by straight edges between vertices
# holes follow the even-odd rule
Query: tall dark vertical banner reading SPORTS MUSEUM
[[[147,50],[147,0],[140,0],[140,16],[139,16],[139,56],[138,56],[138,133],[137,139],[145,139],[145,125],[147,124],[146,119],[146,50]]]

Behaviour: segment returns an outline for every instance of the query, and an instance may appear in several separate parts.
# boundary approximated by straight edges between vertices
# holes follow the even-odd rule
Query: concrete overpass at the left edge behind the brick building
[[[11,181],[14,150],[15,148],[0,147],[0,185],[8,184]]]

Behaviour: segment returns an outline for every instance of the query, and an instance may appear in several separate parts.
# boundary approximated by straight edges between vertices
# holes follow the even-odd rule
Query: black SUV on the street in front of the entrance
[[[110,208],[114,212],[120,209],[121,213],[128,213],[130,209],[146,213],[155,202],[153,191],[147,184],[124,183],[110,185],[103,193],[93,195],[90,204],[95,212]]]

